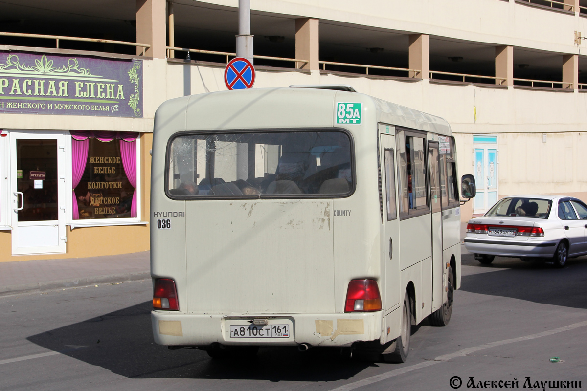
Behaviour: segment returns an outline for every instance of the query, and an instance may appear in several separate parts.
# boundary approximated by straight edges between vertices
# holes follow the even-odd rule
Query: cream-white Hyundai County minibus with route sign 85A
[[[442,118],[347,86],[223,91],[163,103],[152,154],[157,344],[403,362],[410,325],[448,323],[460,196]]]

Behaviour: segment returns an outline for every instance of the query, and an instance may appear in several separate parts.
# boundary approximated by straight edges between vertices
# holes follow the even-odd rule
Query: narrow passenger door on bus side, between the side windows
[[[446,298],[444,293],[444,260],[443,260],[443,233],[442,233],[442,204],[440,196],[440,154],[438,142],[428,142],[429,155],[429,183],[430,183],[430,205],[432,218],[432,311],[440,308]]]

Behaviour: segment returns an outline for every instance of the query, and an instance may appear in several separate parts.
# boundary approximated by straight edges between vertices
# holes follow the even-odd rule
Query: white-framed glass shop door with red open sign
[[[65,133],[10,132],[14,255],[65,253],[65,140]]]

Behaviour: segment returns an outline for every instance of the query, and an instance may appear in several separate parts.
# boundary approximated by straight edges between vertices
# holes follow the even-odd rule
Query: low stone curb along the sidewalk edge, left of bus
[[[88,287],[96,284],[110,284],[124,281],[150,280],[150,271],[135,273],[107,274],[104,276],[90,276],[82,278],[69,278],[67,280],[45,281],[21,285],[7,285],[0,287],[0,297],[19,293],[45,292],[63,288]]]

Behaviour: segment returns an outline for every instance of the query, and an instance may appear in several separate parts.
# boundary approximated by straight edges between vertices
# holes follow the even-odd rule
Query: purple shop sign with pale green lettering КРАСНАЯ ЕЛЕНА
[[[142,118],[143,62],[0,52],[0,113]]]

